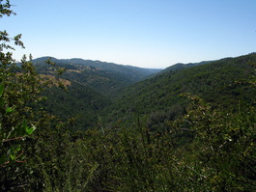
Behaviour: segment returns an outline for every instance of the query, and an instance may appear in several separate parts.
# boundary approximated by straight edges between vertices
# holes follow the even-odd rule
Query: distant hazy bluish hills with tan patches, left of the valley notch
[[[44,64],[50,57],[33,60],[39,72],[46,72]],[[100,61],[69,59],[58,60],[50,58],[54,65],[67,69],[64,77],[84,85],[89,85],[103,95],[110,96],[119,88],[142,80],[146,76],[158,72],[160,69],[141,69],[131,66],[117,65]]]

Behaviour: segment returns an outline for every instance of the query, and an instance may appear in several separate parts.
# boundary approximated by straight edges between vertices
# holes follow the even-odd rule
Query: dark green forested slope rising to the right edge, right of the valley
[[[134,114],[148,115],[161,122],[171,120],[184,111],[182,93],[200,96],[215,106],[239,110],[240,102],[250,102],[255,95],[255,89],[242,90],[238,83],[252,75],[250,62],[256,62],[255,53],[169,71],[138,82],[126,88],[105,110],[106,120],[116,121]]]

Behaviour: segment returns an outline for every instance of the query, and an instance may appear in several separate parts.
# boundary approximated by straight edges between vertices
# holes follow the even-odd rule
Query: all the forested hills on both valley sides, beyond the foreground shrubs
[[[51,75],[52,70],[42,65],[45,59],[36,59],[34,63],[39,72]],[[80,59],[53,58],[52,61],[67,69],[61,78],[70,85],[68,93],[56,87],[46,90],[44,96],[48,99],[43,106],[64,120],[77,117],[79,128],[95,126],[100,117],[103,123],[146,117],[149,127],[155,129],[156,125],[163,127],[164,122],[185,113],[187,100],[180,96],[183,93],[234,111],[239,110],[241,102],[251,104],[255,94],[255,89],[242,90],[236,82],[253,75],[250,62],[256,62],[256,53],[213,62],[178,64],[146,80],[140,79],[158,70]]]

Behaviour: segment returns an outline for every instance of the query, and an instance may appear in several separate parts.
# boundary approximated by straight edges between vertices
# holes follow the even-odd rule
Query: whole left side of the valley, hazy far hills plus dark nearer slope
[[[48,57],[32,60],[32,63],[42,78],[60,80],[59,86],[66,91],[57,88],[56,83],[48,86],[42,93],[47,97],[41,103],[42,108],[61,120],[74,118],[74,129],[94,127],[99,123],[100,112],[112,103],[122,88],[159,70]]]

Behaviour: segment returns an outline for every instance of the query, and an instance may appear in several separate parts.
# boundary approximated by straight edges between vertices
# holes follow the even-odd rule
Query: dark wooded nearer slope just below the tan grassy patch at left
[[[99,121],[100,110],[109,105],[110,100],[88,86],[75,82],[67,87],[67,92],[52,86],[43,91],[47,99],[42,102],[43,109],[66,122],[73,119],[72,128],[88,129]]]

